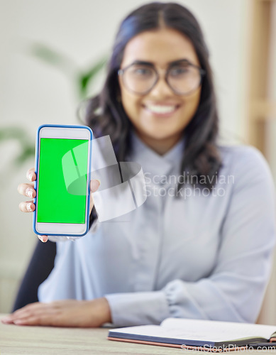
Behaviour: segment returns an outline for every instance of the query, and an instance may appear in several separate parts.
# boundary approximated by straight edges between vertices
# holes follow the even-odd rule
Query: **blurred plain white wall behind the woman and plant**
[[[211,53],[223,136],[245,138],[247,8],[250,0],[182,0],[199,19]],[[0,127],[25,127],[33,143],[40,124],[73,124],[72,82],[28,53],[45,43],[87,67],[108,52],[119,21],[145,1],[0,0]],[[33,161],[7,170],[16,142],[0,145],[0,312],[8,312],[35,236],[31,215],[18,211],[16,186]],[[53,178],[54,181],[54,178]]]

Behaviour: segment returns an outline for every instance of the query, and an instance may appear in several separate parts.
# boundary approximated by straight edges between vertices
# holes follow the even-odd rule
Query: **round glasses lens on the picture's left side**
[[[157,79],[153,67],[133,64],[123,72],[123,82],[132,92],[143,94],[148,92]]]

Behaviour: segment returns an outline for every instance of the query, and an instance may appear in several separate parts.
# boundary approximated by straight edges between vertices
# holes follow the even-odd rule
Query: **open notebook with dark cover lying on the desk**
[[[276,326],[167,318],[160,325],[109,329],[107,339],[221,352],[276,346]]]

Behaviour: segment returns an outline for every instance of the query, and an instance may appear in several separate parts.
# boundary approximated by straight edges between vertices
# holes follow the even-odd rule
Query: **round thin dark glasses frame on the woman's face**
[[[178,64],[178,63],[181,63],[181,62],[185,62],[187,63],[188,65],[192,66],[192,67],[195,67],[197,68],[197,70],[199,70],[199,74],[200,74],[200,80],[199,80],[199,84],[197,85],[197,87],[195,87],[194,89],[190,90],[189,92],[185,92],[184,94],[180,93],[180,92],[177,92],[177,90],[175,90],[173,87],[171,87],[170,85],[170,82],[168,80],[168,75],[169,75],[169,72],[170,72],[170,69]],[[133,65],[148,65],[148,67],[151,67],[154,72],[155,72],[155,75],[156,75],[156,80],[155,82],[153,83],[152,87],[150,87],[150,89],[148,89],[147,91],[141,93],[141,92],[136,92],[135,90],[133,89],[130,89],[128,87],[128,85],[126,84],[125,80],[123,80],[123,74],[124,72],[126,72],[126,70],[128,70],[129,67],[132,67]],[[118,76],[121,76],[122,77],[122,80],[123,80],[123,85],[126,87],[126,89],[128,89],[129,92],[133,92],[134,94],[137,94],[137,95],[146,95],[148,94],[152,89],[153,87],[155,87],[155,85],[158,83],[158,81],[160,80],[160,74],[159,74],[159,71],[156,69],[155,65],[153,65],[152,63],[150,62],[143,62],[143,61],[137,61],[137,62],[132,62],[130,65],[127,65],[126,67],[122,68],[122,69],[119,69],[117,71],[117,74]],[[183,59],[183,60],[176,60],[175,62],[172,62],[169,67],[167,68],[166,70],[166,73],[165,73],[165,82],[167,84],[168,87],[170,87],[170,89],[172,90],[172,92],[174,92],[174,94],[177,94],[179,96],[187,96],[189,94],[192,94],[192,92],[194,92],[195,90],[197,90],[200,85],[202,84],[202,80],[203,80],[203,77],[204,75],[206,75],[206,70],[202,69],[202,67],[199,67],[198,65],[195,65],[195,64],[192,64],[191,62],[189,62],[189,60],[187,59]]]

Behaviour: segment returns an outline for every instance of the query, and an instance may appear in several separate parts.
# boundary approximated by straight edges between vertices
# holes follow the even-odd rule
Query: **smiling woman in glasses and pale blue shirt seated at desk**
[[[142,165],[148,198],[114,223],[96,225],[92,213],[87,236],[57,243],[55,267],[38,291],[46,303],[4,322],[255,322],[275,244],[272,179],[255,148],[216,142],[208,50],[192,13],[152,3],[121,23],[87,124],[96,137],[110,135],[118,161]],[[28,175],[35,180],[33,170]],[[93,180],[92,192],[98,187]],[[35,196],[31,184],[18,190]],[[23,212],[34,208],[21,203]]]

